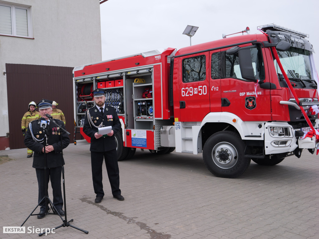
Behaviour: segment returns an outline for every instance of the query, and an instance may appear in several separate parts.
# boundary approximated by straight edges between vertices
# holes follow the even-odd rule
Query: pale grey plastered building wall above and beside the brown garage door
[[[12,0],[31,6],[34,39],[0,35],[0,137],[9,132],[5,64],[75,67],[102,60],[98,0]],[[17,92],[23,102],[23,92]],[[22,118],[22,115],[21,115]],[[20,127],[20,126],[18,126]]]

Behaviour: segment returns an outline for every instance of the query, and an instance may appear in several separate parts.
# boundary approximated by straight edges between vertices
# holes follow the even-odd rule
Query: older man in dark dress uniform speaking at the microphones
[[[52,101],[42,99],[38,103],[39,112],[42,116],[39,120],[33,120],[29,123],[29,130],[26,131],[26,137],[24,139],[25,145],[34,151],[33,164],[32,167],[35,168],[35,172],[38,179],[39,186],[39,198],[38,203],[46,195],[45,192],[45,180],[44,180],[44,170],[46,168],[47,175],[47,188],[48,182],[51,180],[52,194],[53,194],[53,205],[61,216],[64,215],[62,209],[63,206],[63,197],[61,191],[61,173],[62,165],[64,165],[64,159],[62,156],[62,148],[66,148],[70,139],[69,136],[59,127],[56,127],[55,124],[50,123],[50,120],[46,114],[52,113]],[[41,120],[46,120],[47,126],[43,130],[40,123]],[[58,125],[61,125],[64,128],[64,123],[61,120],[56,120]],[[60,134],[62,134],[62,148],[60,141]],[[47,137],[45,137],[47,135]],[[43,141],[46,141],[45,150]],[[47,156],[47,165],[45,165],[45,154]],[[48,203],[48,202],[47,202]],[[41,201],[40,204],[40,213],[38,219],[45,217],[46,205],[45,200]]]

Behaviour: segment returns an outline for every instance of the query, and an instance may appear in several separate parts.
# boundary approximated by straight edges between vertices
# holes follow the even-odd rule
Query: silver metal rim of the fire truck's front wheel
[[[229,169],[237,163],[238,153],[231,143],[220,142],[211,151],[211,158],[219,168]]]

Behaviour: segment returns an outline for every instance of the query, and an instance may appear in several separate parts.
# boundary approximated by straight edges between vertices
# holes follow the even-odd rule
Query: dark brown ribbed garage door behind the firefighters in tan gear
[[[70,141],[74,137],[72,67],[5,64],[8,91],[10,148],[26,148],[21,119],[31,101],[55,100],[66,119]]]

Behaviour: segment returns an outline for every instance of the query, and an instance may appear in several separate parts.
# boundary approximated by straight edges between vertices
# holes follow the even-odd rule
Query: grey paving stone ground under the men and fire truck
[[[15,160],[0,165],[0,225],[20,226],[37,206],[38,186],[26,148],[0,151]],[[304,151],[276,166],[251,162],[235,179],[213,176],[202,155],[154,156],[137,149],[119,162],[124,201],[111,194],[103,165],[105,197],[95,204],[89,145],[64,150],[67,219],[71,227],[46,238],[107,239],[318,239],[319,156]],[[49,198],[52,189],[49,184]],[[38,213],[39,208],[34,213]],[[63,217],[64,219],[64,217]],[[30,216],[26,228],[54,228],[57,215]],[[0,238],[37,238],[3,234]]]

